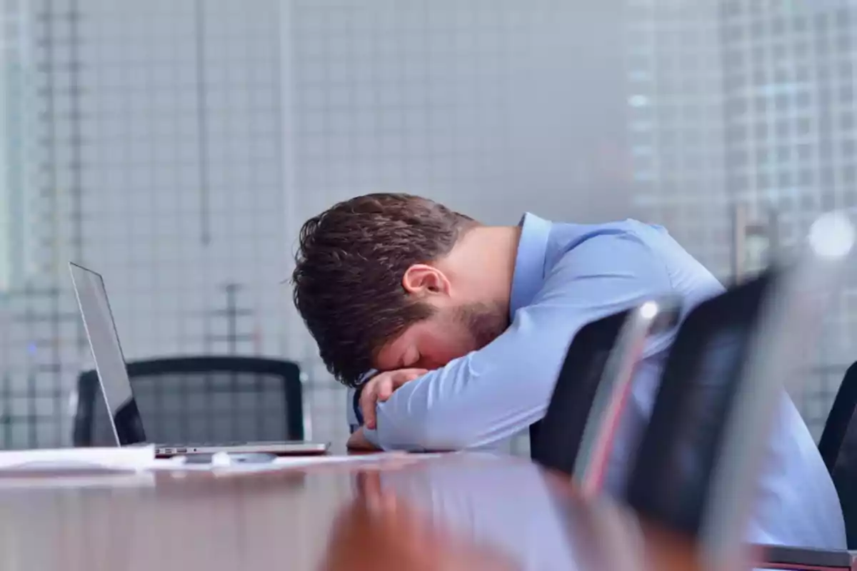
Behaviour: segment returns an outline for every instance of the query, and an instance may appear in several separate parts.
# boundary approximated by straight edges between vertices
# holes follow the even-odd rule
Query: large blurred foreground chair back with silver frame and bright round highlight
[[[825,308],[842,285],[854,228],[841,215],[812,225],[794,265],[705,300],[688,313],[663,366],[661,383],[626,490],[626,502],[698,544],[707,568],[741,568],[783,391],[799,394]],[[764,568],[848,565],[806,551],[776,550]],[[751,556],[752,557],[752,556]],[[800,561],[802,560],[802,561]],[[749,565],[745,565],[749,568]]]

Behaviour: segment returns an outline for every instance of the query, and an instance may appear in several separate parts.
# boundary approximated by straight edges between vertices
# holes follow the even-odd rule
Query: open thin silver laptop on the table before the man
[[[137,408],[134,391],[131,390],[131,381],[107,299],[104,279],[97,272],[71,262],[69,270],[116,443],[118,446],[147,443],[143,419]],[[155,455],[159,457],[216,452],[310,455],[324,454],[330,448],[329,443],[304,441],[156,443],[154,446]]]

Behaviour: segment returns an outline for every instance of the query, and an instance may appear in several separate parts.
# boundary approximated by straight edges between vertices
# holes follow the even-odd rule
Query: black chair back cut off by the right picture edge
[[[857,362],[842,378],[818,450],[839,493],[848,549],[857,549]]]

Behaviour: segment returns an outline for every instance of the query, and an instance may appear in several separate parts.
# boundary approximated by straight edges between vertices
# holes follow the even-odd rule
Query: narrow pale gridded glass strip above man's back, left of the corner
[[[626,15],[628,139],[638,216],[666,226],[718,277],[728,277],[716,4],[629,0]]]

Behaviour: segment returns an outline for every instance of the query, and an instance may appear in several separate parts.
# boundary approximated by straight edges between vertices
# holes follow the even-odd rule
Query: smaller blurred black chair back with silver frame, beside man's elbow
[[[596,492],[646,339],[679,320],[680,299],[664,296],[580,328],[548,410],[530,430],[533,460]]]

